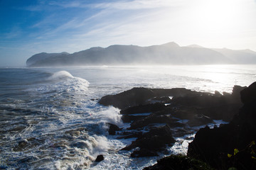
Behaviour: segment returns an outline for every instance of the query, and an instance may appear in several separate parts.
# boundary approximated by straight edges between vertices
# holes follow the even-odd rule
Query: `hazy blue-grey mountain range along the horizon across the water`
[[[199,45],[181,47],[175,42],[168,42],[149,47],[91,47],[73,54],[41,52],[26,61],[27,67],[117,64],[256,64],[256,52],[227,48],[210,49]]]

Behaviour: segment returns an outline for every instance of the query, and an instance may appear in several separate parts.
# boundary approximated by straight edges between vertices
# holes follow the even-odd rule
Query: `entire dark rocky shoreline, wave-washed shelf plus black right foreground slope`
[[[130,123],[126,129],[110,123],[108,126],[109,134],[117,135],[117,138],[136,137],[122,149],[132,150],[131,157],[153,157],[166,153],[167,147],[172,147],[176,142],[176,137],[194,134],[195,127],[204,125],[206,128],[198,130],[195,139],[189,144],[186,160],[201,160],[198,162],[207,164],[203,167],[212,166],[214,169],[233,166],[240,169],[243,166],[255,166],[255,159],[250,155],[247,165],[228,163],[233,162],[231,159],[236,161],[242,149],[248,149],[247,145],[255,140],[255,86],[256,83],[248,88],[234,86],[232,94],[220,94],[218,91],[210,94],[183,88],[133,88],[120,94],[104,96],[98,103],[119,108],[123,122]],[[230,123],[210,129],[207,125],[215,123],[215,120]],[[238,145],[235,145],[235,141]],[[232,154],[234,149],[238,149],[239,154]],[[224,155],[225,159],[220,155]],[[156,165],[145,169],[163,169],[166,159],[159,161],[161,168]],[[170,156],[169,159],[174,161],[177,157]]]

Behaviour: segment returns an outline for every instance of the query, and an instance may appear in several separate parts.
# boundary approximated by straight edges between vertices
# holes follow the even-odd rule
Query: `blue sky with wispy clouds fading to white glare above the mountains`
[[[110,45],[256,51],[256,0],[0,0],[0,67]]]

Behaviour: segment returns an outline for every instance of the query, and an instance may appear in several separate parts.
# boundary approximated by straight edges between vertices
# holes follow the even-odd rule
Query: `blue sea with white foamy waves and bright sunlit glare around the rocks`
[[[0,169],[143,169],[160,157],[120,152],[134,139],[108,135],[106,123],[129,124],[99,98],[142,86],[231,93],[254,81],[256,65],[1,68]],[[168,154],[185,154],[191,140],[176,140]]]

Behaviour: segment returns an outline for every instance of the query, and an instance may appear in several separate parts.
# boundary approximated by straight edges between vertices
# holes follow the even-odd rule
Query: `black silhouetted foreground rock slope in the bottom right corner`
[[[241,92],[244,106],[233,120],[220,128],[208,127],[199,130],[195,139],[188,146],[188,156],[202,159],[218,169],[234,166],[238,169],[255,169],[256,162],[253,152],[245,152],[248,145],[256,140],[256,83]],[[234,149],[250,154],[250,157],[235,157]],[[228,161],[228,154],[235,160]],[[238,154],[239,155],[239,154]]]

